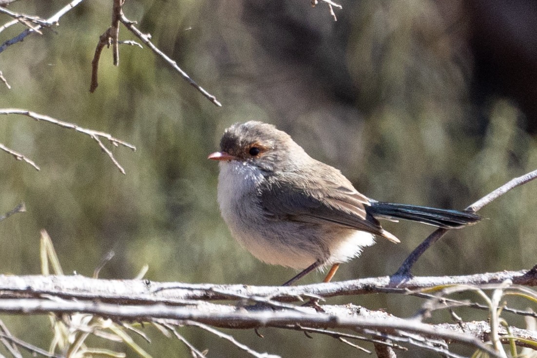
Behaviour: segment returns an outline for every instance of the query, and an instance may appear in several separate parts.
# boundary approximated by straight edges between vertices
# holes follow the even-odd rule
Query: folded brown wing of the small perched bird
[[[340,178],[316,177],[315,180],[303,177],[296,180],[296,175],[286,173],[278,178],[269,178],[260,188],[260,201],[267,215],[278,220],[331,223],[398,242],[395,236],[382,229],[372,215],[367,214],[365,208],[369,200],[357,192],[343,175]]]

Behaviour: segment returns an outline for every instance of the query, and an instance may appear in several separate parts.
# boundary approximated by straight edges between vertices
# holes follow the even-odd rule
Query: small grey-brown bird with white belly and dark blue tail
[[[220,151],[218,202],[231,234],[259,260],[303,271],[358,257],[374,237],[400,242],[378,218],[461,228],[481,217],[468,211],[379,202],[360,194],[336,168],[311,158],[291,136],[274,126],[249,121],[224,131]]]

